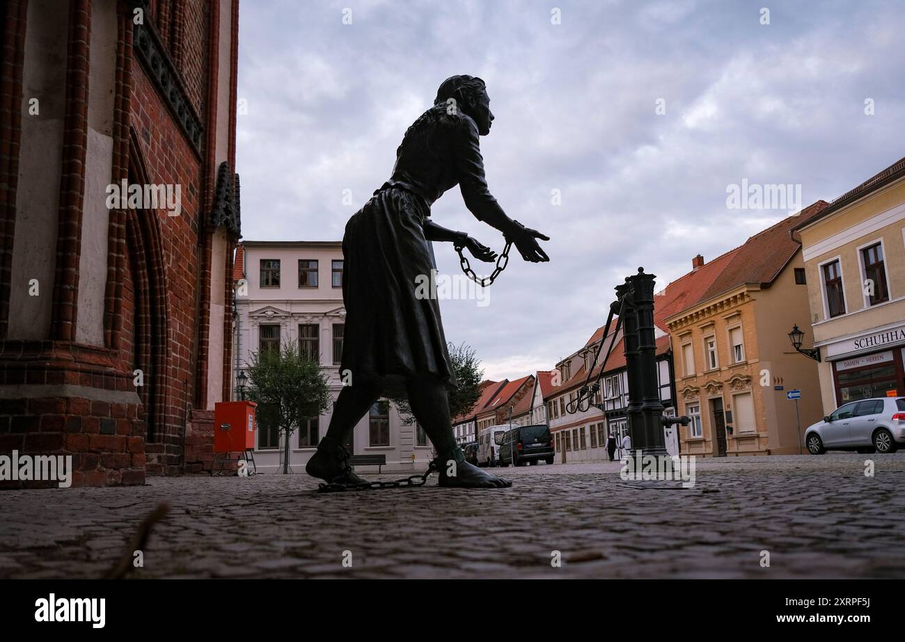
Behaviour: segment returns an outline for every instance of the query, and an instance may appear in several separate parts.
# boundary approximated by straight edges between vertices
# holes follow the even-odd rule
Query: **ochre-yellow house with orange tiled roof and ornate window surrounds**
[[[816,363],[788,333],[808,314],[805,263],[789,232],[829,203],[818,201],[704,264],[691,296],[665,319],[675,361],[682,454],[699,457],[804,452],[804,430],[822,416]],[[786,391],[801,391],[789,401]]]

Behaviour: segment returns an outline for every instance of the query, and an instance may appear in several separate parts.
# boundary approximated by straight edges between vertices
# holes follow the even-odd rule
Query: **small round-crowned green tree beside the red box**
[[[289,442],[310,417],[329,408],[327,376],[320,364],[300,353],[295,342],[282,350],[252,354],[248,398],[258,404],[263,419],[283,433],[283,474],[289,473]]]

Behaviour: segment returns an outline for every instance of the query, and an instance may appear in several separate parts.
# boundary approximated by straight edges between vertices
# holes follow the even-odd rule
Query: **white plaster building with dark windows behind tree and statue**
[[[239,399],[236,379],[265,346],[294,341],[317,354],[329,377],[335,400],[342,388],[338,364],[342,354],[346,309],[342,300],[340,241],[243,241],[236,252],[235,333],[233,335],[233,399]],[[331,411],[325,411],[294,432],[290,466],[303,473],[305,464],[327,431]],[[259,423],[254,458],[259,472],[281,469],[283,444],[278,430]],[[427,466],[431,444],[416,424],[406,426],[392,403],[378,401],[353,431],[349,451],[356,455],[386,455],[385,472]],[[358,467],[376,472],[377,467]]]

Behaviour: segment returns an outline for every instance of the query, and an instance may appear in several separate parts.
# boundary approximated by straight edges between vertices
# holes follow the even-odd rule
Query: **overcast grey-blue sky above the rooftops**
[[[480,76],[491,193],[551,237],[550,262],[513,252],[489,305],[442,301],[446,336],[491,378],[549,369],[638,266],[660,289],[789,213],[730,210],[729,185],[800,184],[806,206],[905,156],[902,33],[900,0],[243,0],[243,237],[340,240],[440,82]],[[500,250],[458,189],[432,212]],[[434,249],[455,274],[452,246]]]

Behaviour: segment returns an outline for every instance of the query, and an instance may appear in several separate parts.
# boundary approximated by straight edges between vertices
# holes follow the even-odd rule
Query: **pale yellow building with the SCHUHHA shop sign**
[[[799,237],[824,414],[905,394],[905,158],[800,223]]]

